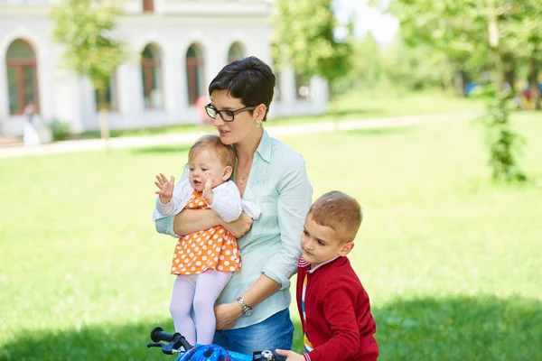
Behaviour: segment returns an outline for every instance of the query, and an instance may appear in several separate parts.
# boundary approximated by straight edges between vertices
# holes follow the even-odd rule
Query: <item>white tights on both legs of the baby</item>
[[[181,333],[192,345],[212,343],[217,326],[214,303],[230,277],[230,272],[207,270],[196,276],[180,275],[175,279],[170,303],[173,325],[175,332]],[[191,317],[192,306],[195,324]]]

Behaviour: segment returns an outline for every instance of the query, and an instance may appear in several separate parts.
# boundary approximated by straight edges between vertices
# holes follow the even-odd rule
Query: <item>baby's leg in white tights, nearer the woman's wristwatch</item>
[[[209,345],[214,338],[217,320],[214,316],[214,302],[228,283],[230,272],[207,270],[198,275],[196,294],[194,296],[194,312],[196,314],[197,341],[201,345]]]

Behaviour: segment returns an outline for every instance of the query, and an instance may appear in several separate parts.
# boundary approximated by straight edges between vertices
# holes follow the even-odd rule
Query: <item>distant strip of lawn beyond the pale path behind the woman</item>
[[[386,93],[350,92],[337,97],[331,104],[330,109],[340,109],[337,111],[337,119],[357,120],[389,116],[422,116],[480,111],[483,109],[483,102],[478,98],[455,97],[438,90],[417,93],[397,93],[392,91]],[[332,120],[333,116],[330,114],[277,117],[269,119],[267,126],[330,122]],[[112,138],[117,138],[121,136],[195,132],[205,129],[211,130],[212,127],[184,124],[145,129],[112,130],[110,135]],[[99,136],[98,131],[90,131],[83,134],[73,134],[72,138],[99,138]]]

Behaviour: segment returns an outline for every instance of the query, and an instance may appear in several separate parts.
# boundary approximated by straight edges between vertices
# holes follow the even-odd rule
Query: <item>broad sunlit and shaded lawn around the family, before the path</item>
[[[350,254],[381,360],[534,360],[542,335],[542,119],[515,116],[530,181],[493,185],[468,120],[297,134],[317,197],[360,200]],[[270,129],[272,133],[272,129]],[[186,146],[0,161],[0,359],[172,359],[174,239],[154,232],[154,174]],[[299,320],[294,348],[301,347]]]

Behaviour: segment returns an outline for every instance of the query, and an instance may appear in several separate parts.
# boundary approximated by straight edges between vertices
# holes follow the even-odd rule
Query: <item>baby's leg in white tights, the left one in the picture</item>
[[[179,332],[191,345],[196,342],[196,327],[190,315],[194,300],[194,286],[184,276],[177,276],[173,283],[172,302],[170,312],[175,325],[175,332]]]

